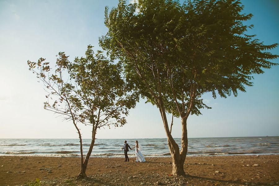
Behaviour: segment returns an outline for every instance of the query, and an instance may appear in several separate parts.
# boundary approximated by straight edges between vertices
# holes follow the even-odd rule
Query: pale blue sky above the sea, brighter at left
[[[28,70],[27,60],[43,57],[54,64],[60,51],[73,60],[85,55],[87,45],[100,49],[98,37],[107,32],[104,7],[117,2],[0,0],[0,138],[78,138],[71,122],[43,109],[46,93]],[[246,24],[255,27],[247,33],[256,34],[267,45],[279,43],[279,2],[241,2],[243,13],[254,15]],[[279,54],[279,48],[271,52]],[[254,78],[254,86],[238,97],[213,99],[205,94],[203,99],[212,109],[188,118],[188,137],[278,136],[279,66]],[[144,100],[126,119],[123,127],[98,130],[96,138],[166,138],[158,108]],[[91,138],[90,126],[79,127],[83,138]],[[181,137],[179,118],[174,119],[172,135]]]

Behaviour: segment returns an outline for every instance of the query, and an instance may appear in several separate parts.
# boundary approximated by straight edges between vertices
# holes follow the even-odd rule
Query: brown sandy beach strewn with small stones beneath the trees
[[[93,157],[86,171],[89,178],[77,180],[78,157],[1,156],[0,185],[24,185],[37,178],[51,186],[278,185],[278,160],[279,155],[187,157],[186,177],[174,177],[169,175],[170,157],[147,157],[144,163]]]

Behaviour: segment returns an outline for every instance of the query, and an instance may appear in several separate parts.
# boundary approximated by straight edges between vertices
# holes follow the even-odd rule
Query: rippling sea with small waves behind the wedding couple
[[[125,139],[96,139],[91,157],[123,157]],[[144,148],[145,157],[169,157],[167,139],[126,139],[133,147],[135,140]],[[181,145],[180,139],[175,141]],[[83,139],[86,155],[91,139]],[[133,157],[135,150],[129,151]],[[279,154],[279,136],[189,138],[187,156],[229,156]],[[79,139],[0,139],[0,155],[80,156]]]

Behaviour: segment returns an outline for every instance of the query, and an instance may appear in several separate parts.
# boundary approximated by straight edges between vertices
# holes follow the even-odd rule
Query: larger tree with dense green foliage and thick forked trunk
[[[210,108],[201,96],[212,92],[226,98],[252,86],[253,74],[263,73],[278,58],[245,32],[251,14],[241,14],[235,0],[199,0],[179,4],[173,0],[119,1],[108,12],[108,33],[100,45],[111,58],[123,61],[125,76],[134,89],[161,113],[173,160],[173,175],[185,175],[188,151],[187,119]],[[181,118],[181,148],[171,135],[167,113]]]

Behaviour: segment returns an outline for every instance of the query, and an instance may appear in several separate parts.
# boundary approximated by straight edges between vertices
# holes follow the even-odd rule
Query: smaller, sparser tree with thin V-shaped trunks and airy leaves
[[[125,116],[128,109],[135,107],[138,96],[129,91],[122,79],[121,64],[108,60],[101,51],[95,54],[92,46],[88,46],[86,57],[75,58],[73,62],[68,57],[64,52],[59,53],[53,73],[43,58],[28,64],[49,93],[44,108],[71,120],[78,131],[81,151],[78,177],[84,178],[97,129],[126,124]],[[91,144],[85,158],[78,123],[92,126]]]

